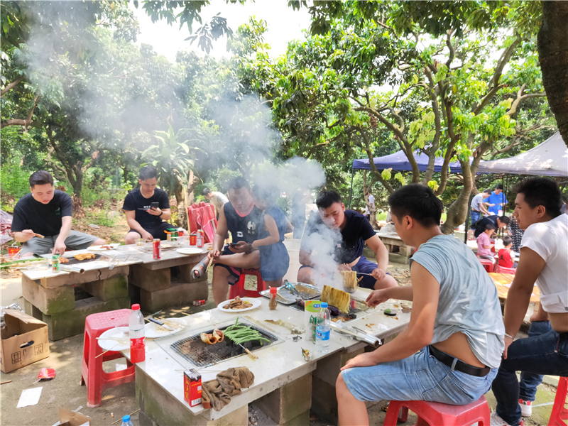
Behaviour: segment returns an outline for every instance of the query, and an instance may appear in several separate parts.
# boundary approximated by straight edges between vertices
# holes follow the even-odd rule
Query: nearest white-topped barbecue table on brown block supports
[[[363,300],[367,295],[364,290],[357,290],[355,293],[357,298]],[[324,402],[322,400],[331,398],[329,388],[333,388],[332,396],[333,401],[335,400],[334,384],[339,368],[348,359],[361,354],[366,345],[351,337],[332,332],[327,354],[317,353],[315,346],[307,342],[305,334],[301,335],[302,339],[298,342],[294,342],[289,329],[266,322],[283,320],[304,329],[304,312],[285,305],[278,305],[277,310],[271,311],[268,308],[268,299],[263,297],[261,300],[261,307],[242,312],[240,315],[214,309],[185,318],[189,323],[187,329],[197,333],[214,327],[215,324],[234,321],[240,316],[283,340],[254,351],[258,356],[257,360],[244,355],[207,368],[198,368],[204,382],[214,379],[219,371],[231,367],[246,366],[255,376],[251,388],[244,389],[243,393],[231,398],[231,403],[219,412],[206,410],[203,405],[190,407],[185,403],[185,367],[178,364],[178,361],[153,339],[146,339],[146,361],[136,364],[136,398],[141,408],[141,425],[246,425],[248,405],[253,401],[279,425],[309,425],[312,401],[321,405]],[[348,324],[368,329],[371,334],[381,339],[391,337],[408,326],[410,314],[400,312],[396,319],[387,317],[383,314],[386,307],[400,312],[400,304],[383,303]],[[366,327],[366,324],[369,327]],[[303,359],[302,348],[312,351],[311,361]],[[129,357],[130,351],[123,351],[123,354]],[[318,395],[312,393],[312,388]],[[327,405],[330,402],[327,401]],[[319,410],[317,413],[321,414]],[[337,416],[337,407],[335,415]]]

